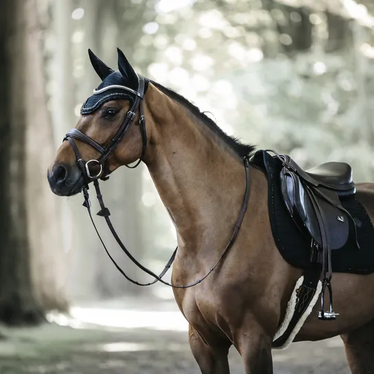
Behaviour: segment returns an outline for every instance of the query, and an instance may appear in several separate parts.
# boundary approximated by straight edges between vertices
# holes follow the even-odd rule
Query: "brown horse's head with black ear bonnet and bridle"
[[[147,129],[142,101],[148,81],[117,51],[114,71],[89,50],[102,82],[82,105],[77,126],[67,133],[47,172],[57,195],[78,194],[92,177],[106,179],[117,167],[144,156]]]

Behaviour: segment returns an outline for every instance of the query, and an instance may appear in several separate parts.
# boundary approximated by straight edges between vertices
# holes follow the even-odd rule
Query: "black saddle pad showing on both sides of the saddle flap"
[[[302,233],[294,224],[290,213],[285,207],[281,194],[279,173],[281,161],[270,156],[266,151],[259,150],[251,161],[260,167],[268,176],[268,210],[272,235],[283,259],[296,268],[310,266],[309,236]],[[374,272],[374,229],[373,224],[362,204],[355,197],[342,200],[342,206],[349,211],[356,224],[358,243],[355,244],[355,230],[349,219],[349,238],[347,243],[338,250],[331,250],[333,272],[350,272],[354,274],[370,274]]]

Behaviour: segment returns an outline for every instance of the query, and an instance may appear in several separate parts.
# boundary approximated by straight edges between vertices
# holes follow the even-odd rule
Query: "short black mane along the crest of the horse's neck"
[[[176,102],[185,106],[185,108],[196,115],[198,119],[201,119],[202,122],[207,125],[216,135],[218,135],[227,145],[229,145],[229,147],[233,149],[238,156],[244,157],[248,154],[251,155],[255,151],[254,145],[244,144],[237,138],[227,135],[226,132],[224,132],[220,127],[217,126],[217,124],[215,124],[215,121],[202,113],[197,106],[189,102],[189,100],[187,100],[182,95],[179,95],[172,89],[167,89],[157,82],[154,82],[152,80],[150,80],[150,82],[152,82],[152,84],[154,84],[160,91],[165,93],[165,95],[170,97],[172,100],[175,100]]]

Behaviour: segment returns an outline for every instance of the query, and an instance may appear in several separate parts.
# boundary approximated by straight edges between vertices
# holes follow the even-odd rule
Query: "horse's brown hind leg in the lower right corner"
[[[374,320],[341,338],[352,374],[374,374]]]

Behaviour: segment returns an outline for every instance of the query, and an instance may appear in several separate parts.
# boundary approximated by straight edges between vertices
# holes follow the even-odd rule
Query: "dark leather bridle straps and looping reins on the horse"
[[[117,235],[117,232],[115,231],[115,228],[114,228],[112,222],[110,221],[110,211],[104,204],[103,196],[102,196],[102,193],[100,191],[100,185],[99,185],[99,178],[102,179],[102,180],[108,180],[109,175],[110,175],[110,170],[109,170],[109,165],[108,165],[108,156],[112,152],[114,152],[115,148],[117,148],[119,143],[121,143],[122,139],[124,139],[124,136],[126,135],[126,132],[128,131],[128,129],[130,128],[131,124],[133,123],[133,121],[135,119],[137,110],[139,110],[139,126],[140,126],[140,131],[141,131],[141,139],[142,139],[142,142],[143,142],[143,147],[142,147],[141,156],[139,158],[139,161],[137,161],[137,163],[134,166],[126,165],[126,167],[135,168],[141,163],[141,161],[143,161],[143,157],[145,155],[145,150],[146,150],[146,147],[147,147],[147,133],[145,131],[145,117],[143,115],[143,95],[144,95],[144,91],[145,91],[145,79],[141,75],[138,75],[138,78],[139,78],[139,85],[138,85],[137,91],[132,90],[132,89],[126,87],[126,86],[118,86],[118,85],[115,86],[115,88],[117,88],[117,89],[123,89],[124,91],[128,91],[128,92],[132,93],[132,95],[135,95],[135,100],[134,100],[130,110],[126,114],[126,117],[125,117],[123,123],[121,124],[118,131],[116,132],[115,137],[113,137],[113,139],[111,139],[109,141],[108,145],[106,145],[106,146],[100,145],[99,143],[97,143],[96,141],[94,141],[93,139],[88,137],[87,135],[84,135],[83,132],[80,132],[80,130],[77,130],[76,128],[73,128],[72,130],[69,130],[69,132],[67,132],[67,135],[65,135],[64,141],[65,140],[69,141],[71,147],[73,148],[78,167],[80,168],[80,171],[82,172],[82,176],[84,178],[84,187],[82,189],[82,192],[83,192],[83,195],[84,195],[83,206],[86,207],[86,209],[89,213],[89,217],[91,219],[93,227],[94,227],[94,229],[97,233],[97,236],[100,239],[100,242],[102,242],[102,245],[104,246],[106,254],[110,258],[110,261],[113,262],[113,265],[117,268],[117,270],[119,270],[119,272],[121,272],[121,274],[128,281],[130,281],[131,283],[134,283],[136,285],[141,285],[141,286],[152,285],[152,284],[159,281],[159,282],[161,282],[165,285],[169,285],[170,287],[173,287],[173,288],[193,287],[194,285],[197,285],[198,283],[203,281],[205,278],[207,278],[209,276],[209,274],[211,274],[211,272],[213,272],[213,270],[218,267],[218,265],[221,263],[222,259],[224,259],[224,257],[226,257],[230,248],[233,246],[233,244],[235,242],[235,239],[237,238],[240,226],[242,225],[242,222],[243,222],[244,213],[246,212],[246,208],[248,206],[248,200],[249,200],[249,190],[250,190],[249,158],[248,158],[248,156],[244,157],[244,167],[245,167],[245,170],[246,170],[246,191],[245,191],[245,194],[244,194],[244,201],[243,201],[242,207],[241,207],[240,212],[239,212],[239,217],[237,218],[237,222],[235,223],[235,226],[234,226],[234,229],[233,229],[233,234],[231,235],[231,239],[229,240],[229,243],[224,248],[224,251],[222,252],[222,255],[220,256],[218,261],[215,263],[215,265],[212,268],[209,269],[209,272],[207,272],[207,274],[205,274],[204,277],[202,277],[201,279],[198,279],[197,281],[194,281],[193,283],[189,283],[187,285],[173,285],[171,283],[168,283],[167,281],[164,281],[162,278],[166,274],[167,270],[169,270],[170,266],[172,266],[172,263],[173,263],[173,261],[176,257],[176,251],[178,249],[178,246],[175,248],[175,250],[172,254],[172,257],[170,257],[169,261],[167,261],[167,264],[166,264],[165,268],[163,269],[163,271],[159,275],[152,272],[152,270],[149,270],[148,268],[145,268],[145,266],[141,265],[139,263],[139,261],[137,261],[137,259],[135,259],[135,257],[133,257],[131,255],[131,253],[128,251],[126,246],[121,242],[121,239]],[[95,93],[101,93],[103,90],[108,90],[108,89],[113,89],[113,88],[114,88],[113,86],[107,86],[104,89],[101,89],[99,91],[94,91],[94,94]],[[80,155],[80,152],[78,150],[77,145],[75,144],[74,139],[91,145],[91,147],[95,148],[95,150],[100,152],[100,154],[101,154],[100,158],[97,159],[97,160],[93,159],[93,160],[89,160],[89,161],[83,161],[82,156]],[[90,168],[89,168],[90,163],[95,163],[97,165],[100,165],[100,171],[97,172],[96,175],[91,174],[91,171],[90,171]],[[123,250],[124,253],[127,255],[127,257],[138,268],[143,270],[143,272],[145,272],[146,274],[149,274],[152,277],[154,277],[154,281],[152,281],[150,283],[139,283],[138,281],[135,281],[135,280],[131,279],[124,272],[124,270],[122,270],[119,267],[119,265],[117,264],[115,259],[113,259],[113,257],[110,255],[110,253],[108,251],[108,248],[106,248],[106,245],[104,244],[104,241],[103,241],[102,237],[100,236],[99,231],[97,230],[95,222],[93,221],[93,217],[92,217],[92,213],[91,213],[91,202],[90,202],[90,199],[89,199],[89,183],[91,182],[91,180],[93,181],[93,185],[94,185],[95,191],[96,191],[96,197],[97,197],[97,200],[98,200],[98,202],[100,204],[100,208],[101,208],[100,211],[97,213],[97,215],[99,215],[101,217],[104,217],[104,219],[106,220],[106,224],[108,224],[110,232],[112,233],[113,237],[117,241],[121,250]]]

